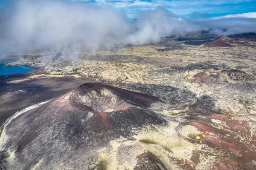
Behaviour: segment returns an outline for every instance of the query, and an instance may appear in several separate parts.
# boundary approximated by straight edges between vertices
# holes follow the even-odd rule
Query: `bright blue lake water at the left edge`
[[[4,64],[10,61],[0,61],[0,75],[11,75],[35,70],[27,66],[5,66]]]

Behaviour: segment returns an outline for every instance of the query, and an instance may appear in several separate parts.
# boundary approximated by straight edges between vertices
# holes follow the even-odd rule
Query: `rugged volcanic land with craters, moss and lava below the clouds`
[[[0,77],[14,107],[0,104],[0,167],[256,169],[256,47],[210,44],[166,38],[7,63],[40,69]]]

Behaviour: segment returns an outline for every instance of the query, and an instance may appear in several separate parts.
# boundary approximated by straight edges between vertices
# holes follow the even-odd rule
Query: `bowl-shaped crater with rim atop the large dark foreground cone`
[[[70,103],[84,111],[112,112],[132,105],[149,107],[157,98],[113,86],[87,83],[70,93]]]

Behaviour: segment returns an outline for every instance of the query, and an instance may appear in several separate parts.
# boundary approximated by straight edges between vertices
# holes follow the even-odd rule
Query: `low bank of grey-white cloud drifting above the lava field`
[[[100,3],[104,2],[108,1]],[[137,21],[128,20],[122,10],[116,10],[108,4],[99,6],[95,3],[67,3],[59,0],[16,1],[15,5],[0,10],[0,53],[38,49],[63,51],[70,48],[74,51],[97,50],[116,44],[143,44],[160,40],[163,36],[179,36],[203,29],[213,34],[228,35],[255,32],[256,28],[256,17],[252,17],[255,12],[218,19],[181,20],[163,6],[152,10],[155,3],[138,0],[126,0],[125,3],[128,6],[144,5],[142,12],[134,14]],[[134,12],[132,9],[127,10]]]

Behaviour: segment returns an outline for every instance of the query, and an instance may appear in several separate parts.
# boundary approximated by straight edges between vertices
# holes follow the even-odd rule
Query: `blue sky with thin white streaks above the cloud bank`
[[[128,17],[134,17],[141,10],[155,9],[165,6],[180,17],[190,17],[192,12],[208,13],[209,17],[228,14],[256,12],[256,0],[65,0],[76,3],[95,3],[111,5],[124,10]],[[0,0],[5,6],[8,0]]]

